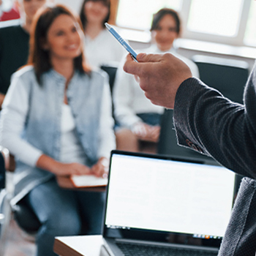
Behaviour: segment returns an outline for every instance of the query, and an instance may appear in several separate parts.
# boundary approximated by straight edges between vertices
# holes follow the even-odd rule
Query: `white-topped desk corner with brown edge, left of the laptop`
[[[102,236],[59,236],[53,251],[60,256],[109,256]]]

